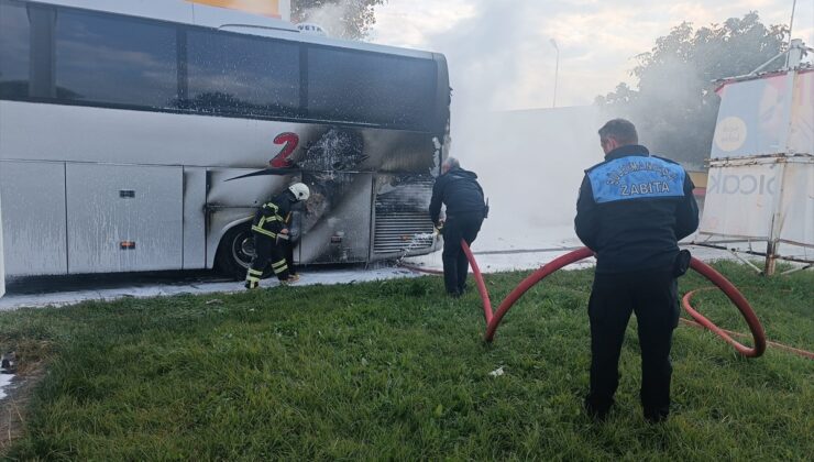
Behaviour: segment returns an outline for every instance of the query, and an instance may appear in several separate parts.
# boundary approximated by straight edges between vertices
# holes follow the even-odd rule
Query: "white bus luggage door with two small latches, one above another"
[[[68,273],[180,270],[184,169],[67,164]]]

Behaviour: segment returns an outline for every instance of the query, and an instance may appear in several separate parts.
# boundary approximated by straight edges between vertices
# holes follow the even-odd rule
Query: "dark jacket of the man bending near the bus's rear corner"
[[[463,168],[452,168],[436,179],[430,199],[430,219],[438,223],[441,202],[447,205],[447,216],[480,211],[484,212],[483,189],[477,175]]]

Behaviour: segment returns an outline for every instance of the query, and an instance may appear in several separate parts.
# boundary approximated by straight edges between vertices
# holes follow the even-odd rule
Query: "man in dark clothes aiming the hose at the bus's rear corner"
[[[441,202],[447,206],[447,220],[439,222]],[[453,297],[466,287],[469,261],[461,249],[461,239],[468,244],[477,237],[485,218],[486,206],[477,175],[461,168],[457,158],[448,157],[441,164],[441,175],[436,179],[430,200],[430,219],[443,231],[443,284]]]

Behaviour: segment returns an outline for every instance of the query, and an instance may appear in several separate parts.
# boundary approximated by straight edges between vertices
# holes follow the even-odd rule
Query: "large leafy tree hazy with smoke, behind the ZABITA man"
[[[630,118],[653,153],[701,167],[721,103],[713,80],[755,70],[784,50],[788,34],[785,25],[765,26],[755,11],[698,30],[684,22],[637,56],[636,89],[619,84],[595,101],[608,114]],[[782,65],[777,59],[765,70]]]

